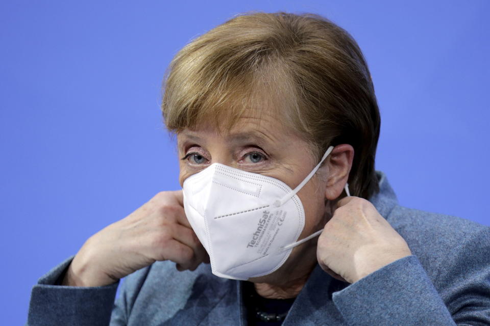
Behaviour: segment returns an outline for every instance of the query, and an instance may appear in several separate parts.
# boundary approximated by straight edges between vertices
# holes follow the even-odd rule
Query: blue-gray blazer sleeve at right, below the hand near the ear
[[[490,325],[490,229],[449,252],[435,279],[399,259],[333,294],[352,325]]]

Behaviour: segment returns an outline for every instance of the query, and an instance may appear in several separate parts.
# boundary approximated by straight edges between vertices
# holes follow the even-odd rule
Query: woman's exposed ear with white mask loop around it
[[[325,198],[335,200],[344,191],[349,179],[349,172],[354,159],[354,148],[349,144],[341,144],[334,147],[327,157],[327,178],[325,184]]]

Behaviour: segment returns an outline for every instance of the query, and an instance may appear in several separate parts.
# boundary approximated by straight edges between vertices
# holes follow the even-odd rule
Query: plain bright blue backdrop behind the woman
[[[401,204],[490,224],[487,0],[4,1],[2,324],[26,320],[37,278],[91,234],[179,188],[162,76],[190,39],[250,10],[347,29],[380,105],[377,168]]]

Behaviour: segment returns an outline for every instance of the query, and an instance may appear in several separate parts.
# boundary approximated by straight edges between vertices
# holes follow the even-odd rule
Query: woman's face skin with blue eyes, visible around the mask
[[[200,126],[177,134],[180,160],[180,184],[184,180],[220,163],[233,168],[277,178],[295,188],[318,163],[311,145],[284,127],[273,115],[244,116],[229,131]],[[305,227],[299,239],[320,230],[326,223],[325,173],[319,170],[298,192],[305,210]],[[300,273],[316,264],[316,239],[293,249],[286,263],[269,276],[252,280],[274,283],[285,275]],[[291,270],[292,268],[292,270]],[[298,270],[295,272],[295,270]]]

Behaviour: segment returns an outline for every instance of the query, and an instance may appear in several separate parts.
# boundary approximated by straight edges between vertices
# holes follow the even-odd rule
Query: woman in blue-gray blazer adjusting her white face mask
[[[29,324],[490,324],[489,229],[397,204],[369,70],[335,24],[217,26],[174,58],[162,111],[183,190],[44,276]]]

